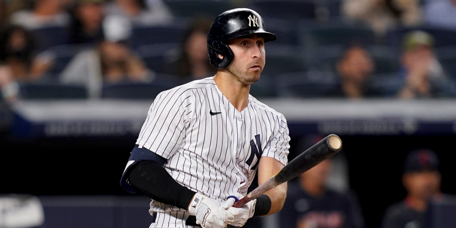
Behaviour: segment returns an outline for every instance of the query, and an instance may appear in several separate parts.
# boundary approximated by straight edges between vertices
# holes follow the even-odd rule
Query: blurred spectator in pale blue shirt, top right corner
[[[425,21],[430,25],[456,29],[456,0],[433,0],[425,5]]]

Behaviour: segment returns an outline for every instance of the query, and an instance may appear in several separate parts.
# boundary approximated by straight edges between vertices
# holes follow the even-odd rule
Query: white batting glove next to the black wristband
[[[233,207],[234,202],[234,198],[229,198],[223,203],[223,208],[227,209],[224,220],[230,225],[242,227],[254,216],[256,199],[239,208]]]

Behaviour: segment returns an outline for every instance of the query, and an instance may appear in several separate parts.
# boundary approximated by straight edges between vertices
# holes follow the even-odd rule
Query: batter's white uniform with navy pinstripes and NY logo
[[[150,106],[136,144],[162,156],[168,173],[206,197],[245,196],[260,156],[288,162],[285,117],[249,95],[238,112],[213,77],[160,93]],[[152,200],[150,228],[187,228],[185,209]]]

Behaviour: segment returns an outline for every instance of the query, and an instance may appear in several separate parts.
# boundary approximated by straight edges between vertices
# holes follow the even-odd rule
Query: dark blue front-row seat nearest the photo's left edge
[[[87,89],[78,85],[57,83],[22,83],[19,86],[21,99],[85,99]]]

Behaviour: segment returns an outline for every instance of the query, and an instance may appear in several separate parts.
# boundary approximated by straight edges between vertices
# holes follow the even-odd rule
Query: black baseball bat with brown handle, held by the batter
[[[242,207],[249,201],[259,197],[264,192],[299,176],[301,173],[308,171],[313,166],[318,165],[321,161],[331,157],[342,149],[342,140],[339,136],[331,134],[312,145],[309,149],[291,160],[277,174],[269,178],[259,187],[249,192],[247,196],[239,199],[233,207]]]

